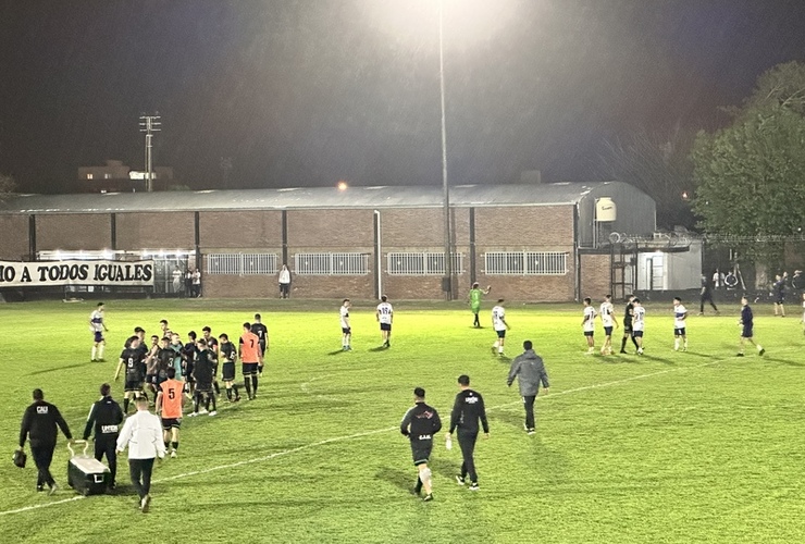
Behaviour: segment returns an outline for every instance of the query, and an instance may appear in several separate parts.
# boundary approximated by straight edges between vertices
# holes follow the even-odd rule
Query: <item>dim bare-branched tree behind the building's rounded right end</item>
[[[596,172],[633,185],[657,202],[657,225],[693,227],[683,195],[692,187],[690,152],[695,134],[677,126],[669,134],[640,131],[621,140],[605,140]]]

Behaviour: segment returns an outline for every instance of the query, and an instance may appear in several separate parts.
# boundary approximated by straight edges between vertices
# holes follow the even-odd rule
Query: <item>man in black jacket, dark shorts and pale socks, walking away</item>
[[[431,482],[431,469],[428,461],[433,450],[433,435],[442,430],[442,420],[435,408],[425,404],[425,390],[417,387],[413,390],[413,407],[409,408],[399,424],[399,432],[411,441],[411,454],[413,466],[417,467],[417,486],[413,493],[419,495],[422,487],[425,496],[422,500],[433,500],[433,486]]]

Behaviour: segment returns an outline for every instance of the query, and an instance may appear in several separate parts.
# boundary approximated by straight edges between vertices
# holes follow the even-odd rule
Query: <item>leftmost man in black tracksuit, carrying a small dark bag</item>
[[[25,448],[25,440],[29,438],[30,455],[39,470],[36,479],[36,491],[45,491],[45,484],[47,483],[50,487],[49,495],[52,495],[59,489],[50,474],[50,462],[53,460],[59,429],[62,430],[64,436],[72,444],[73,435],[70,433],[66,421],[59,412],[59,408],[45,401],[42,390],[34,390],[34,404],[25,410],[23,423],[20,428],[20,450],[22,452]]]

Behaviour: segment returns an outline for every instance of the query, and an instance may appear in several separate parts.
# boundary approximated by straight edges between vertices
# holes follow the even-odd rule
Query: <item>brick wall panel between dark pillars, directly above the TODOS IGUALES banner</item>
[[[111,228],[108,213],[37,215],[37,250],[108,249],[112,247]]]

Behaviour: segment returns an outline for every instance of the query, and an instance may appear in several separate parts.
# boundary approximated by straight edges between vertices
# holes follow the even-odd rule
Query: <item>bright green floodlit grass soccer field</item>
[[[338,306],[109,300],[106,363],[89,362],[94,304],[0,307],[2,542],[805,542],[797,316],[755,307],[768,353],[748,348],[739,359],[736,306],[721,317],[694,310],[690,350],[674,353],[670,305],[649,305],[646,355],[603,358],[584,355],[581,306],[511,305],[507,355],[534,341],[552,381],[536,404],[537,434],[527,436],[517,388],[506,387],[508,360],[490,349],[490,305],[485,329],[474,330],[461,305],[397,304],[386,350],[373,306],[356,305],[351,353],[339,349]],[[271,334],[259,398],[185,419],[179,458],[154,471],[150,514],[128,486],[78,497],[66,486],[63,437],[55,495],[34,491],[33,462],[12,466],[34,387],[78,435],[134,326],[150,335],[165,318],[183,341],[203,325],[236,337],[255,311]],[[481,491],[456,485],[460,452],[438,435],[435,500],[425,504],[409,494],[416,472],[397,425],[417,385],[448,421],[461,373],[488,408]],[[123,460],[121,484],[126,469]]]

